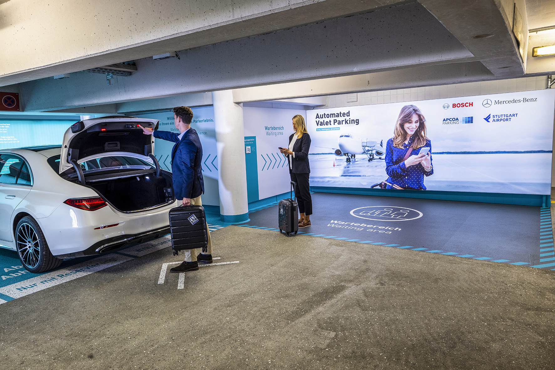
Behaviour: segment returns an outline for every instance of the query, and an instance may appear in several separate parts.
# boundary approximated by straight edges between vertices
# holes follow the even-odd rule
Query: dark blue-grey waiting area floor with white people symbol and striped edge
[[[299,234],[555,270],[549,208],[320,192],[312,204]],[[277,203],[249,217],[238,226],[279,231]]]

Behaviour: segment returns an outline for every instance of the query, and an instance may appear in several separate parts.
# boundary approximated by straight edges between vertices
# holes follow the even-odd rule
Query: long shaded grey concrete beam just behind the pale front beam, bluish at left
[[[84,72],[22,83],[23,109],[76,108],[476,60],[418,3],[189,49],[180,57],[137,60],[137,72],[115,78],[111,86],[104,75]]]

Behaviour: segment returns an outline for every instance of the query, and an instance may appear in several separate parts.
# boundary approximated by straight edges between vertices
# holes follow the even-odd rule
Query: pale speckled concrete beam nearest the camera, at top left
[[[402,0],[0,3],[0,86],[367,12]]]

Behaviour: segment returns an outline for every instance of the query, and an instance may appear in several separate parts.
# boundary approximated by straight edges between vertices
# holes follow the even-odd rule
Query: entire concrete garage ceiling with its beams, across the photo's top
[[[512,0],[206,0],[186,6],[178,0],[98,0],[93,8],[87,8],[88,1],[75,1],[69,11],[75,21],[67,20],[69,14],[56,16],[67,12],[56,7],[61,3],[57,0],[48,6],[33,0],[0,3],[0,37],[11,34],[26,47],[8,42],[0,52],[7,60],[0,65],[0,86],[19,83],[25,110],[310,80],[318,86],[310,89],[313,95],[324,95],[337,93],[334,78],[355,75],[360,76],[357,87],[358,80],[367,80],[368,90],[377,90],[555,70],[549,57],[532,63],[533,74],[526,67],[531,59],[526,55],[527,29],[530,24],[555,24],[549,15],[555,0],[517,0],[523,54],[512,32]],[[23,3],[36,9],[25,13]],[[110,12],[103,11],[108,4]],[[54,9],[48,8],[52,5]],[[44,17],[48,12],[52,19]],[[18,31],[21,24],[33,29],[32,40],[25,38],[27,31]],[[180,60],[152,59],[174,50],[181,50]],[[118,77],[112,86],[102,74],[78,72],[126,60],[135,60],[137,72]],[[71,78],[48,78],[63,73],[72,73]]]

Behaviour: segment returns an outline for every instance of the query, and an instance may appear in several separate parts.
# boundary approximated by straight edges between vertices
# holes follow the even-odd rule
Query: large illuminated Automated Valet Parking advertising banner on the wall
[[[310,185],[551,194],[554,100],[536,90],[308,110]]]

